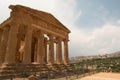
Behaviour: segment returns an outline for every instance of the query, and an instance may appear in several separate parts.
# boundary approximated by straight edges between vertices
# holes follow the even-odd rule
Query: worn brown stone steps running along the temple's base
[[[64,75],[65,71],[72,69],[70,65],[54,64],[54,65],[40,65],[40,64],[6,64],[0,68],[0,78],[4,76],[14,77],[28,77],[33,74],[48,74]]]

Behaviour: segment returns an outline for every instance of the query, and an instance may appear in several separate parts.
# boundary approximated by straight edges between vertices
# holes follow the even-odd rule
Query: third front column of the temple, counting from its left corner
[[[44,64],[43,54],[45,54],[44,48],[44,35],[42,32],[38,33],[38,46],[37,46],[37,62]]]

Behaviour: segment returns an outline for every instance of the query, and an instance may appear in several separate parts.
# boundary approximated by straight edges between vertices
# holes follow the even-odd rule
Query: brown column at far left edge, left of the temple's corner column
[[[0,64],[3,63],[5,60],[8,34],[9,34],[9,27],[5,26],[3,28],[3,34],[2,34],[1,45],[0,45]]]

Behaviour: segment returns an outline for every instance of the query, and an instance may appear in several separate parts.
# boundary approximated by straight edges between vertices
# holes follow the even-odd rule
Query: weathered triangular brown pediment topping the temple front
[[[25,6],[21,6],[21,5],[10,5],[10,7],[15,8],[15,7],[19,7],[21,9],[24,9],[23,11],[26,11],[27,13],[31,14],[31,15],[36,15],[37,17],[39,17],[40,19],[51,23],[57,27],[59,27],[60,29],[63,29],[65,31],[67,31],[68,33],[70,33],[70,30],[65,27],[59,20],[57,20],[52,14],[47,13],[47,12],[43,12],[43,11],[38,11],[35,9],[31,9],[29,7],[25,7]]]

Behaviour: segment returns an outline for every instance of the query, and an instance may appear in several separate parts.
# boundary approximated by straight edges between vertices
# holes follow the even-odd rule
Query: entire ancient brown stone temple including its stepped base
[[[10,5],[10,17],[0,24],[0,76],[69,70],[70,30],[53,15]]]

